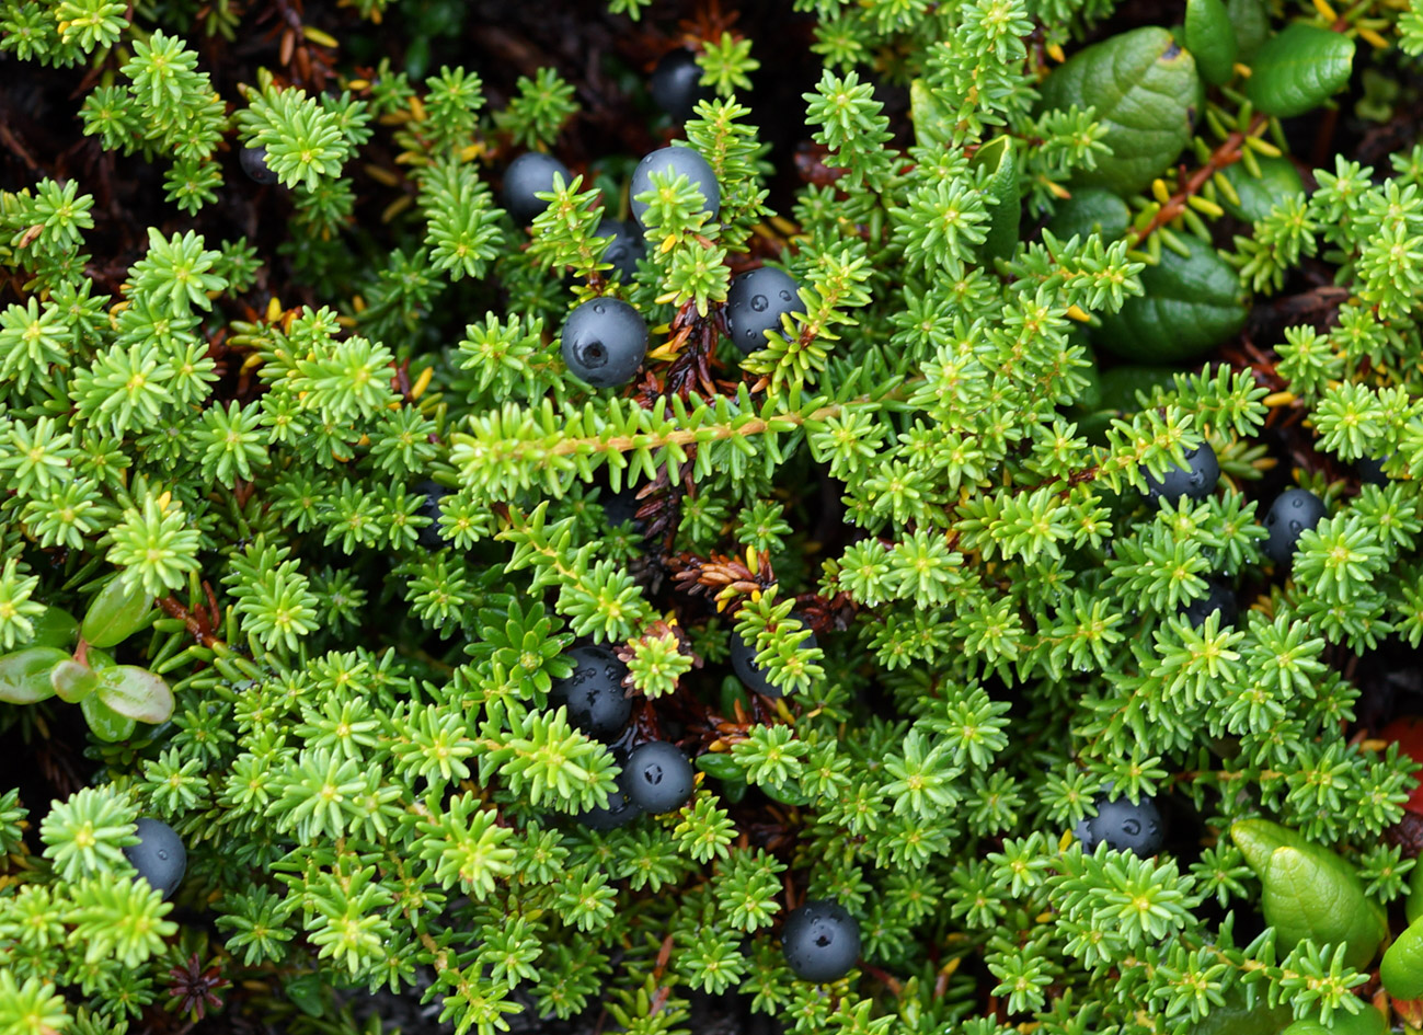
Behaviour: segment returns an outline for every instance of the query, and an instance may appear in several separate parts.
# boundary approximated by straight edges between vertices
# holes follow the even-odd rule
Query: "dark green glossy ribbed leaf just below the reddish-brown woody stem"
[[[1093,342],[1134,363],[1180,363],[1210,352],[1245,326],[1245,295],[1215,249],[1183,236],[1190,258],[1161,249],[1141,270],[1143,295],[1104,315]]]

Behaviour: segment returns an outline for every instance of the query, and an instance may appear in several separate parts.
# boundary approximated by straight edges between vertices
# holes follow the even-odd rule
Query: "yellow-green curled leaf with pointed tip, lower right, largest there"
[[[1389,927],[1352,866],[1269,820],[1241,820],[1231,839],[1259,877],[1261,913],[1282,952],[1311,938],[1316,945],[1348,944],[1348,967],[1362,970],[1373,960]]]

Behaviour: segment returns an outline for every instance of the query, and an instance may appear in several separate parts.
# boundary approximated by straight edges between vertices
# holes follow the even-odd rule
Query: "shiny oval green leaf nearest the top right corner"
[[[1303,115],[1349,83],[1353,40],[1296,21],[1265,41],[1251,63],[1245,97],[1278,118]]]

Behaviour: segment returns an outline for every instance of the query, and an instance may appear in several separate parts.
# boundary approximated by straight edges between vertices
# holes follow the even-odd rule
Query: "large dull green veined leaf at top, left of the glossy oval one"
[[[1096,108],[1111,154],[1073,182],[1128,195],[1165,172],[1190,142],[1201,97],[1195,58],[1167,30],[1146,26],[1094,43],[1054,68],[1039,107]]]

